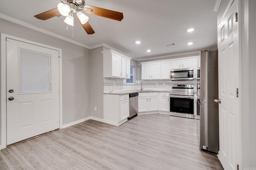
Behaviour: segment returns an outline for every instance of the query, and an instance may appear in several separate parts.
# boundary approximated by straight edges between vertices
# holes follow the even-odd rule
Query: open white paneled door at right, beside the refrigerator
[[[238,0],[234,0],[218,25],[218,72],[219,72],[219,126],[220,162],[225,170],[235,170],[239,164],[239,50]]]

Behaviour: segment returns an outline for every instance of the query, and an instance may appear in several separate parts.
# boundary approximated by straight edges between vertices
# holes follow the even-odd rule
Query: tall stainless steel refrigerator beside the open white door
[[[198,120],[200,149],[218,153],[219,151],[219,114],[218,103],[218,49],[201,50],[200,113]]]

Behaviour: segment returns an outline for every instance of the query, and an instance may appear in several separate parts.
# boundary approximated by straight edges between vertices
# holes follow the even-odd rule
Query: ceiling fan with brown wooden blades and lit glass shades
[[[101,16],[105,18],[109,18],[112,20],[121,21],[124,16],[121,12],[116,12],[112,10],[107,10],[104,8],[98,8],[95,6],[86,5],[84,0],[60,0],[61,3],[58,4],[58,8],[54,8],[52,10],[43,12],[38,14],[34,17],[40,20],[48,20],[52,17],[63,15],[66,16],[64,20],[65,23],[68,25],[74,26],[74,14],[76,19],[82,25],[84,30],[88,34],[94,34],[94,30],[92,29],[91,25],[88,23],[88,16],[86,16],[81,11],[84,10],[88,14]]]

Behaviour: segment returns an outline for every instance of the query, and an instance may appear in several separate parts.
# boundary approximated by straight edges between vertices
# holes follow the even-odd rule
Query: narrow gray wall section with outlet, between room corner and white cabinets
[[[91,116],[103,119],[103,47],[90,50],[90,112]],[[97,110],[94,110],[97,107]]]

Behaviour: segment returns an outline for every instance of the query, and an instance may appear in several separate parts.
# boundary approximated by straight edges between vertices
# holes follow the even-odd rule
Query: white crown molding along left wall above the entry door
[[[41,32],[41,33],[45,33],[45,34],[47,34],[47,35],[51,35],[52,37],[56,37],[56,38],[62,39],[62,40],[64,40],[64,41],[68,41],[68,42],[70,42],[70,43],[79,45],[79,46],[81,46],[81,47],[85,47],[85,48],[87,48],[87,49],[90,49],[90,46],[88,46],[88,45],[85,45],[85,44],[83,44],[83,43],[79,43],[78,41],[74,41],[74,40],[72,40],[72,39],[63,37],[62,35],[58,35],[58,34],[56,34],[56,33],[47,31],[46,29],[42,29],[42,28],[37,27],[37,26],[35,26],[35,25],[32,25],[32,24],[30,24],[30,23],[26,23],[26,22],[21,21],[21,20],[18,20],[18,19],[16,19],[16,18],[7,16],[7,15],[5,15],[5,14],[0,13],[0,18],[2,18],[2,19],[4,19],[4,20],[7,20],[7,21],[11,21],[11,22],[13,22],[13,23],[17,23],[17,24],[22,25],[22,26],[24,26],[24,27],[28,27],[28,28],[30,28],[30,29],[34,29],[34,30],[39,31],[39,32]]]

